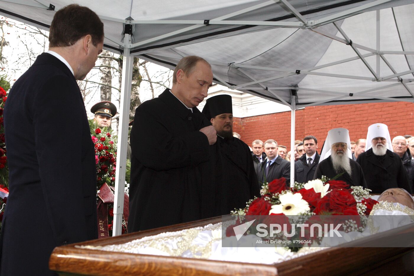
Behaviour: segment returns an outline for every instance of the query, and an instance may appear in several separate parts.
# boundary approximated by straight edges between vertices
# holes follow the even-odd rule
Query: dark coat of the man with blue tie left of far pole
[[[266,164],[267,158],[259,164],[258,168],[256,169],[256,174],[258,176],[259,183],[270,182],[274,179],[279,178],[286,178],[286,185],[289,185],[290,182],[290,162],[283,159],[279,155],[277,156],[276,160],[270,165],[269,173],[266,176]]]

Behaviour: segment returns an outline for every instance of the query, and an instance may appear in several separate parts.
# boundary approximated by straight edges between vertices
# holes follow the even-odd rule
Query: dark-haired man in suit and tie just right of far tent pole
[[[298,183],[306,183],[313,179],[320,158],[318,151],[316,151],[318,140],[315,136],[309,135],[303,138],[303,147],[306,154],[303,154],[295,162],[295,181]]]

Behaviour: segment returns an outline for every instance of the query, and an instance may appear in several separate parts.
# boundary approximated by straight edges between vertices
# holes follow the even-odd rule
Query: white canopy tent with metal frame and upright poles
[[[0,14],[48,29],[74,1],[0,0]],[[414,0],[78,0],[105,25],[104,48],[124,55],[114,235],[121,233],[132,57],[173,69],[187,55],[215,82],[292,110],[414,102]],[[409,4],[409,5],[408,5]],[[293,151],[294,135],[291,136]],[[294,164],[291,166],[294,181]]]

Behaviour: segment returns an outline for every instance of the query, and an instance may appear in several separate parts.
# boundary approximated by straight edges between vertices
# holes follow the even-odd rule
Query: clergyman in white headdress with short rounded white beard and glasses
[[[401,158],[393,152],[387,125],[377,123],[368,127],[366,151],[358,156],[356,162],[361,166],[367,187],[373,194],[390,188],[403,188],[411,193]]]

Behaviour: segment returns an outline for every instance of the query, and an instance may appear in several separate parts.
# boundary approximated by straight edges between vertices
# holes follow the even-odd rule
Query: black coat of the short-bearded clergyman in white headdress
[[[403,188],[411,193],[407,172],[398,154],[387,149],[383,163],[378,161],[372,149],[361,153],[356,162],[362,168],[368,189],[373,194],[381,194],[389,188]]]

